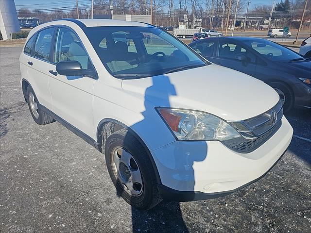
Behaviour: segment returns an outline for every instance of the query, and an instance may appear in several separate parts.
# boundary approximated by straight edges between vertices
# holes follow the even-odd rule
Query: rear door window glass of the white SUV
[[[50,51],[54,31],[54,28],[47,28],[38,33],[35,41],[35,57],[45,61],[50,60]]]

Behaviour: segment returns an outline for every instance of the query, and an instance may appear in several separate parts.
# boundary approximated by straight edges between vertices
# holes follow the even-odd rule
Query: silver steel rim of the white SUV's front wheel
[[[116,147],[112,150],[110,158],[114,176],[124,192],[132,197],[140,196],[143,191],[142,176],[132,154],[123,147]]]

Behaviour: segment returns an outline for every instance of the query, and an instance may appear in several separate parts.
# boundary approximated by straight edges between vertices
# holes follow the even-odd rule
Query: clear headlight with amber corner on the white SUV
[[[178,140],[219,140],[241,137],[224,120],[208,113],[192,110],[157,108]]]

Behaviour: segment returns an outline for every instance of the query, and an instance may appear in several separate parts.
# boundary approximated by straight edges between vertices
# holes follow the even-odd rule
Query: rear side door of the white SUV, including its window
[[[31,84],[39,103],[48,109],[52,108],[52,98],[49,89],[48,67],[50,64],[52,40],[55,27],[45,28],[36,33],[29,43],[35,41],[34,49],[27,56],[27,79]]]

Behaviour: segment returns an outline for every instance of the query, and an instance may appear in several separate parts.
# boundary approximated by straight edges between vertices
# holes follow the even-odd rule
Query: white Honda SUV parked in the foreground
[[[291,142],[273,88],[149,24],[39,25],[20,70],[35,122],[57,120],[103,152],[118,193],[138,209],[232,193],[265,175]]]

